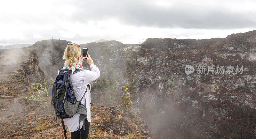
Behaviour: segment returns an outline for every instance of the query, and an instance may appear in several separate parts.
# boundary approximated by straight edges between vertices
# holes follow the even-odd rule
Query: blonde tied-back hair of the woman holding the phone
[[[81,56],[81,49],[75,44],[68,44],[64,51],[63,59],[66,59],[65,64],[71,66],[72,63],[77,62],[77,58]]]

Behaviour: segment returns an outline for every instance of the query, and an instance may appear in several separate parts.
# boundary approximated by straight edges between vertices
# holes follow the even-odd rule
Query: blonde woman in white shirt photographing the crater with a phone
[[[95,81],[100,77],[100,70],[96,67],[92,61],[90,55],[86,55],[86,58],[81,56],[80,45],[69,43],[67,48],[64,51],[63,59],[66,59],[64,63],[64,69],[69,69],[74,72],[76,69],[84,69],[82,62],[87,59],[87,63],[90,65],[91,70],[82,70],[75,74],[70,74],[70,80],[74,88],[74,94],[76,100],[79,101],[86,90],[87,84]],[[59,74],[59,71],[58,71]],[[90,84],[91,86],[91,84]],[[85,130],[81,129],[83,127],[83,121],[78,124],[80,113],[76,113],[73,117],[63,119],[64,123],[67,125],[69,131],[71,132],[72,139],[80,139],[80,134],[82,139],[87,139],[89,135],[89,128],[91,122],[91,92],[90,89],[87,89],[85,97],[82,99],[82,104],[84,104],[84,99],[86,99],[86,109],[87,109],[87,118],[85,122]],[[81,130],[78,130],[81,129]],[[81,133],[80,133],[81,132]]]

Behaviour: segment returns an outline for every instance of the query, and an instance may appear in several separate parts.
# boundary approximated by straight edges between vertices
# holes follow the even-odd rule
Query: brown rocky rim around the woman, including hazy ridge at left
[[[0,138],[64,137],[61,122],[55,121],[50,107],[51,97],[43,102],[28,102],[25,97],[32,83],[43,83],[44,79],[56,77],[56,71],[63,64],[60,58],[67,43],[65,40],[43,40],[18,51],[0,50],[0,64],[4,67],[0,74]],[[15,55],[20,59],[10,61]],[[90,138],[151,138],[147,123],[132,110],[120,106],[92,106],[91,112]],[[115,113],[119,113],[118,119]],[[101,127],[102,123],[116,126]]]

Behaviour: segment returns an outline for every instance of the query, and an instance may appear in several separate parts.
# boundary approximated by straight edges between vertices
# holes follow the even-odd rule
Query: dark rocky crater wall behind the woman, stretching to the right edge
[[[34,69],[40,76],[56,77],[64,64],[61,56],[67,43],[43,40],[25,48],[38,58],[41,70],[37,66]],[[150,136],[256,137],[256,30],[226,38],[147,39],[142,44],[111,40],[81,47],[88,48],[101,72],[92,84],[92,101],[96,105],[118,105],[121,86],[129,83],[132,108],[146,120]],[[194,73],[185,74],[186,65],[193,66]],[[214,73],[207,74],[208,66],[213,65]],[[235,69],[243,66],[243,73],[216,73],[217,66],[225,66],[226,70],[229,65]],[[84,66],[89,69],[85,62]],[[206,67],[205,73],[197,74],[196,70],[202,66]],[[102,127],[107,125],[102,130],[119,131],[116,127],[119,124],[114,127],[102,124]]]

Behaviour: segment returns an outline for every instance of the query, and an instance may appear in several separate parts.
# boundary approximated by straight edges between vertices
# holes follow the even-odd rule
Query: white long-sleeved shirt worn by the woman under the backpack
[[[79,101],[86,90],[87,84],[90,84],[91,82],[95,81],[100,77],[100,70],[97,66],[94,64],[90,65],[91,70],[82,70],[74,74],[70,74],[70,80],[73,85],[74,94],[76,97],[76,100]],[[59,71],[58,71],[59,74]],[[91,86],[91,84],[90,84]],[[85,93],[85,99],[86,99],[86,109],[87,109],[87,120],[88,122],[91,122],[91,92],[89,88],[87,89],[87,92]],[[84,104],[84,98],[81,101],[82,104]],[[80,113],[76,113],[71,118],[63,119],[64,123],[67,125],[70,132],[74,132],[78,130],[79,128],[78,122],[79,122],[79,116]],[[80,122],[80,129],[83,126],[83,121]]]

